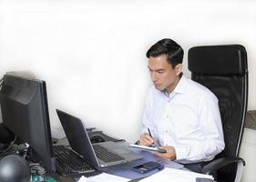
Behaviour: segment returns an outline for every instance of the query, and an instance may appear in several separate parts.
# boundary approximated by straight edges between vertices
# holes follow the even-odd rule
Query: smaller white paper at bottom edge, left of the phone
[[[128,182],[130,179],[125,177],[118,177],[115,175],[109,175],[107,173],[101,173],[94,177],[81,177],[78,182]]]

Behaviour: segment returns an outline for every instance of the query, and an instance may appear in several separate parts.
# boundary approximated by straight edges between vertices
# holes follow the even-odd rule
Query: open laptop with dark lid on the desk
[[[70,147],[84,157],[93,167],[110,167],[142,159],[127,146],[107,141],[92,144],[87,129],[76,116],[56,109],[57,116],[66,133]]]

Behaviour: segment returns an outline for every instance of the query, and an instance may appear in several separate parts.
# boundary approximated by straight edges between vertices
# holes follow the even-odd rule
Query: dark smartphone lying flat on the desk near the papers
[[[149,162],[140,164],[136,167],[132,167],[132,170],[134,170],[138,173],[144,174],[144,173],[147,173],[155,168],[161,169],[163,167],[164,166],[162,164],[160,164],[159,162],[149,161]]]

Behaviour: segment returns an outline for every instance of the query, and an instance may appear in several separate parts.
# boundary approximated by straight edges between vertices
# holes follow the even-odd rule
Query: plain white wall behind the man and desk
[[[60,108],[133,142],[150,86],[145,53],[164,37],[186,55],[194,45],[245,45],[256,109],[255,9],[250,0],[0,0],[0,75],[30,70],[46,80],[54,136],[64,135]]]

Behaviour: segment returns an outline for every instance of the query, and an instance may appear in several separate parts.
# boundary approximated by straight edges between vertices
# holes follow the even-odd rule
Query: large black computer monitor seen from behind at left
[[[46,82],[5,75],[0,104],[4,125],[29,145],[28,157],[55,171]]]

